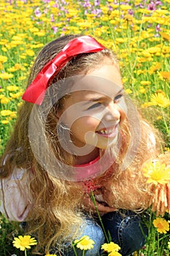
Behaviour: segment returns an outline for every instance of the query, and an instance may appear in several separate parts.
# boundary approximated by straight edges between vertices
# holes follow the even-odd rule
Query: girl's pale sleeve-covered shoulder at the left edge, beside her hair
[[[9,220],[22,222],[31,206],[30,170],[15,167],[7,178],[0,182],[0,211]]]

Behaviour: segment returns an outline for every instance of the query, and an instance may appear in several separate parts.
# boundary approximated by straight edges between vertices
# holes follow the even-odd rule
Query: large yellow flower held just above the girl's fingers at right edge
[[[170,167],[157,162],[149,162],[143,168],[143,174],[147,177],[147,183],[166,184],[170,181]]]

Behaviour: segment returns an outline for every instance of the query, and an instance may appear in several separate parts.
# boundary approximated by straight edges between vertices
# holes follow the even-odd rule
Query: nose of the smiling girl
[[[105,121],[111,121],[111,120],[119,120],[120,119],[120,110],[117,107],[117,104],[112,102],[109,104],[106,108],[106,113],[104,115]]]

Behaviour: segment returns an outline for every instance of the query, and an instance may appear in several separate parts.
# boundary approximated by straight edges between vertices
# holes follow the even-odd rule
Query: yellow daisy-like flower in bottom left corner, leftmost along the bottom
[[[35,238],[31,238],[31,236],[18,236],[18,238],[14,238],[12,244],[20,249],[20,251],[24,251],[25,249],[30,249],[31,245],[37,244],[37,241]]]

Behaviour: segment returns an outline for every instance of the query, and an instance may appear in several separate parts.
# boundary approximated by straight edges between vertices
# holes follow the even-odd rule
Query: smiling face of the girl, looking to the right
[[[109,63],[74,83],[59,117],[70,128],[75,146],[106,149],[117,142],[125,112],[120,72]]]

